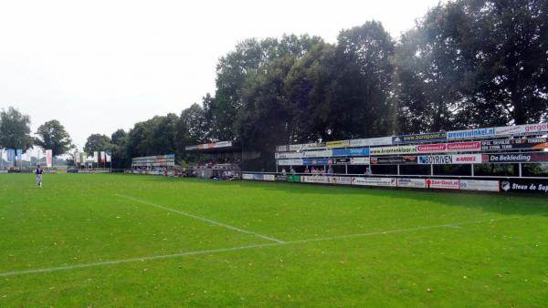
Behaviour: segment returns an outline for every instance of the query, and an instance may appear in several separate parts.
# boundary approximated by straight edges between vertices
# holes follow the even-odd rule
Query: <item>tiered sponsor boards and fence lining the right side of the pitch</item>
[[[276,172],[245,180],[448,190],[548,191],[548,123],[277,148]]]

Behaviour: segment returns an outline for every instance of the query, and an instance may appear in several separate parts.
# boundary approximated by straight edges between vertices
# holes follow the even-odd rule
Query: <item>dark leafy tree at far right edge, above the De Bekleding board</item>
[[[524,124],[548,117],[548,2],[464,1],[475,36],[473,56],[479,98],[471,115],[494,113],[503,123]],[[483,112],[486,110],[487,112]]]

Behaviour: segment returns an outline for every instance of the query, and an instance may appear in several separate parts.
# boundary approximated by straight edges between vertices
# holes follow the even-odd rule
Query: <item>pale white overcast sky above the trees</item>
[[[220,56],[248,37],[381,21],[394,37],[437,0],[1,1],[0,108],[57,118],[83,147],[215,92]]]

